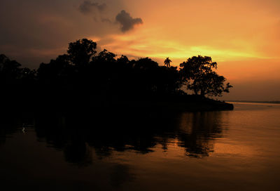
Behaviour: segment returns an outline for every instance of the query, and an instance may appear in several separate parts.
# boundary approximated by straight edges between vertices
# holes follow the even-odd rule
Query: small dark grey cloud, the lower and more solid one
[[[120,23],[120,29],[123,32],[127,32],[130,29],[133,29],[135,25],[143,24],[143,20],[141,18],[132,18],[130,13],[126,11],[120,11],[116,16],[116,21]]]

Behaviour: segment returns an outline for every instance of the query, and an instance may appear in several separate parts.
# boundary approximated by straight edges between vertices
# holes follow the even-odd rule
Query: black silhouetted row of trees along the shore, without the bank
[[[105,49],[97,53],[95,42],[80,39],[69,44],[66,54],[41,63],[37,70],[21,68],[0,55],[0,84],[3,99],[45,104],[169,100],[186,96],[182,86],[201,97],[221,96],[232,87],[214,72],[217,63],[210,57],[188,58],[180,68],[171,62],[167,58],[165,66],[160,66],[151,58],[129,60]]]

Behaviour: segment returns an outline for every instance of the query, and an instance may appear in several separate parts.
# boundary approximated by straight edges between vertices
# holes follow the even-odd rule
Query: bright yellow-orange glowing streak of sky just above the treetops
[[[172,59],[184,61],[193,55],[210,55],[218,62],[272,58],[257,53],[252,48],[246,48],[246,44],[244,44],[244,49],[251,49],[251,51],[211,46],[188,46],[175,40],[150,39],[143,33],[139,35],[112,35],[110,38],[113,40],[107,44],[102,44],[102,47],[116,51],[118,54],[134,55],[139,58],[148,56],[164,59],[169,56]]]

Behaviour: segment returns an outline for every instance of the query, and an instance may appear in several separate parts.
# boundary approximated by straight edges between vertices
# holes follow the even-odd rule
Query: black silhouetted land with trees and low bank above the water
[[[217,63],[194,56],[180,69],[150,58],[129,60],[109,51],[97,53],[97,44],[81,39],[69,44],[67,54],[37,70],[0,55],[2,112],[136,112],[232,110],[233,105],[206,98],[228,93],[230,84],[218,75]],[[185,86],[193,91],[188,95]]]

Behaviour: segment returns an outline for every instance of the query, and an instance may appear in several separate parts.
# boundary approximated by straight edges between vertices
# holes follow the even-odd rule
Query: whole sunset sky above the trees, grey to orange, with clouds
[[[0,0],[0,53],[36,68],[92,39],[130,59],[179,66],[211,56],[222,100],[280,100],[279,0]]]

